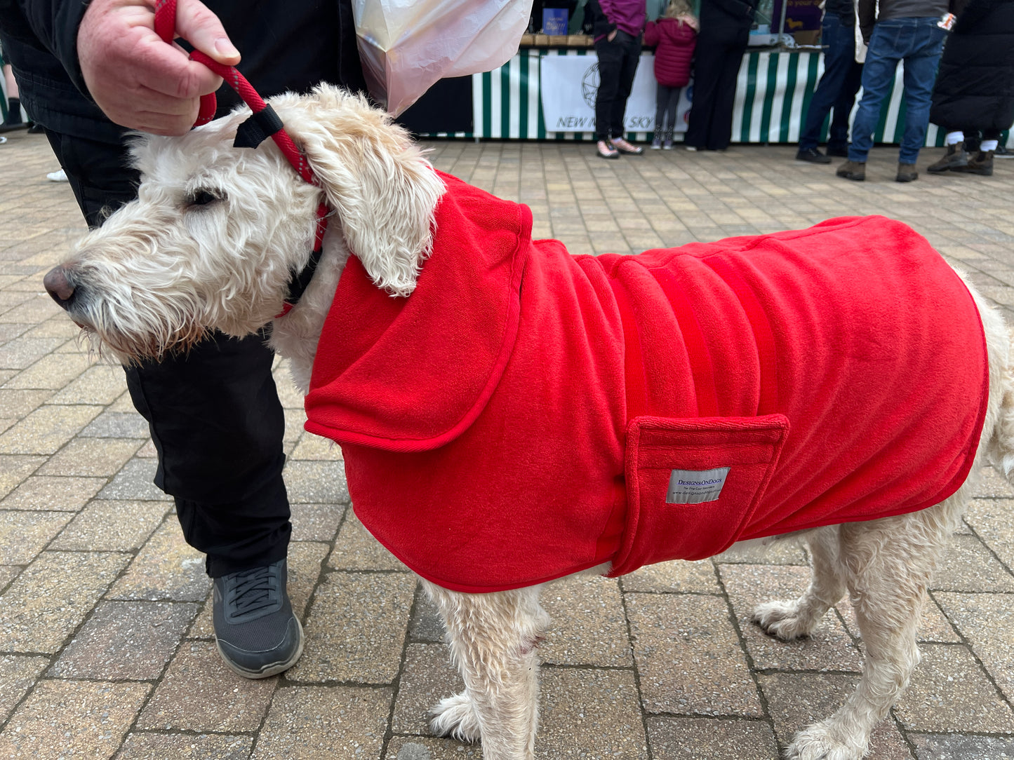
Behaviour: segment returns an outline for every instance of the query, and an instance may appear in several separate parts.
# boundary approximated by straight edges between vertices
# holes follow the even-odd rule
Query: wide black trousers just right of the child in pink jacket
[[[706,150],[725,150],[732,141],[736,77],[749,42],[749,29],[701,27],[695,53],[691,119],[684,142]]]

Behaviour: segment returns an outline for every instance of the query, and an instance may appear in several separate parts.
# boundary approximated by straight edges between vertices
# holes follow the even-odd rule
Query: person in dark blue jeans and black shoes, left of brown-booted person
[[[849,115],[863,79],[863,65],[856,61],[856,11],[852,0],[825,0],[820,22],[824,70],[813,91],[799,133],[797,161],[830,163],[831,156],[849,155]],[[820,130],[832,113],[826,155],[817,150]]]

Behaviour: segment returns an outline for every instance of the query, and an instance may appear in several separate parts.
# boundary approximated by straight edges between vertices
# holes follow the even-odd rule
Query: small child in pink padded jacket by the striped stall
[[[655,110],[655,150],[672,148],[679,91],[691,79],[691,61],[697,45],[698,19],[689,0],[670,0],[662,17],[649,21],[644,44],[655,47],[655,79],[658,82]]]

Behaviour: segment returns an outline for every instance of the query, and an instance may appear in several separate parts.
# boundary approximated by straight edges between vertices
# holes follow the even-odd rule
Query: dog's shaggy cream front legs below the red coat
[[[538,724],[536,647],[550,618],[539,587],[460,594],[424,582],[447,627],[464,691],[432,710],[436,736],[482,739],[486,760],[530,760]]]

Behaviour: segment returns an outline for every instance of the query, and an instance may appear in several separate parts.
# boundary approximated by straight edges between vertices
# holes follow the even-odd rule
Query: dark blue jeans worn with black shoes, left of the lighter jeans
[[[849,147],[849,115],[856,102],[856,93],[863,76],[863,65],[856,63],[854,26],[846,26],[835,14],[825,15],[820,25],[824,72],[806,109],[806,120],[799,133],[799,149],[816,148],[827,113],[834,109],[827,147],[846,150]]]

